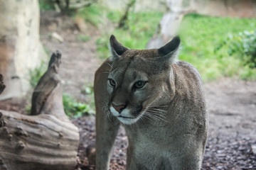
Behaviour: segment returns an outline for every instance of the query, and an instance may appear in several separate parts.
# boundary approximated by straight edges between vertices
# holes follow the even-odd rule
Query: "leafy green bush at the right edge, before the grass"
[[[228,48],[228,55],[239,57],[250,68],[256,67],[256,30],[243,31],[235,35],[229,35],[215,51],[222,47]]]

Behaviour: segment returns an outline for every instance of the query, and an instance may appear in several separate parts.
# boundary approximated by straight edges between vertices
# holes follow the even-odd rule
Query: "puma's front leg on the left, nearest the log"
[[[95,107],[96,107],[96,169],[107,170],[114,139],[119,129],[119,121],[111,115],[107,94],[107,77],[110,70],[108,61],[102,64],[95,73]]]

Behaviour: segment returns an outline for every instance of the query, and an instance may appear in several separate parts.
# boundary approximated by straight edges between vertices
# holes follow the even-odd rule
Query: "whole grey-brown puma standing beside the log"
[[[177,60],[180,38],[159,49],[129,50],[110,37],[95,73],[96,169],[109,169],[119,125],[128,137],[127,170],[201,169],[208,133],[198,71]]]

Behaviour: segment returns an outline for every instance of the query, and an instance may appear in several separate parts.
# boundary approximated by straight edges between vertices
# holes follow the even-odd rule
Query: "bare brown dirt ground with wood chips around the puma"
[[[58,23],[63,22],[63,18],[55,18],[54,22],[48,21],[49,18],[43,19],[43,45],[50,53],[55,50],[62,53],[60,77],[63,79],[63,92],[86,101],[81,90],[92,84],[94,72],[102,62],[97,57],[95,45],[100,34],[91,29],[88,31],[90,40],[80,42],[76,38],[79,30],[72,21],[68,20],[70,23],[60,27]],[[60,43],[50,38],[53,32],[64,41]],[[205,89],[209,132],[203,169],[256,169],[256,152],[252,152],[252,145],[256,145],[256,81],[226,78],[206,82]],[[10,100],[2,101],[0,108],[18,110],[18,106],[12,106]],[[72,121],[80,130],[76,169],[95,169],[88,164],[85,153],[86,147],[95,142],[95,118],[83,117]],[[127,145],[127,137],[121,128],[114,145],[111,169],[124,169]]]

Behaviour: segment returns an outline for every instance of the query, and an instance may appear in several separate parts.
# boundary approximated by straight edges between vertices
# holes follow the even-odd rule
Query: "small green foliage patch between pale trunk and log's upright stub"
[[[36,87],[36,84],[38,84],[39,79],[43,76],[43,74],[47,70],[47,65],[43,62],[41,62],[41,65],[37,67],[36,69],[29,70],[30,74],[30,84],[32,88]]]

